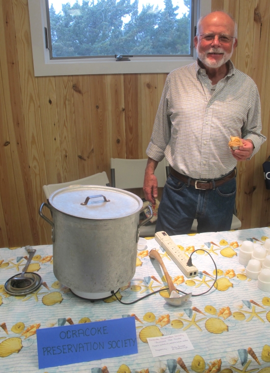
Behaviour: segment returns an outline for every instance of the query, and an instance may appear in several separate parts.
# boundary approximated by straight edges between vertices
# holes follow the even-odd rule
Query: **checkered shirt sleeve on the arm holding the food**
[[[253,157],[253,155],[259,151],[262,143],[266,141],[266,137],[261,134],[261,130],[262,120],[260,96],[257,86],[253,83],[253,86],[251,87],[250,107],[247,114],[247,120],[242,127],[242,138],[244,140],[250,139],[254,144],[253,152],[248,159]]]

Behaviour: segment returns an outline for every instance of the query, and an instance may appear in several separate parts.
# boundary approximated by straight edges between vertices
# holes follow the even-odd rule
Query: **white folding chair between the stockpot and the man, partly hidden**
[[[111,185],[114,188],[132,189],[142,188],[144,172],[147,159],[110,159]],[[166,166],[168,163],[165,158],[159,162],[155,175],[158,179],[158,186],[163,187],[167,176]],[[155,235],[156,224],[140,227],[141,237],[153,237]]]

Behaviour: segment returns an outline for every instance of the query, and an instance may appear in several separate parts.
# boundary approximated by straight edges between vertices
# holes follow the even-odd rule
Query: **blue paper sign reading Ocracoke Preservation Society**
[[[39,369],[138,352],[135,317],[37,329],[36,335]]]

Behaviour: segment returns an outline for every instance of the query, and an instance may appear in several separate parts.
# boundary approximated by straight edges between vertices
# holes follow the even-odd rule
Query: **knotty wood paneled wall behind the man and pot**
[[[212,0],[239,25],[233,60],[258,85],[270,128],[269,0]],[[110,157],[146,158],[167,74],[34,77],[27,0],[0,0],[0,247],[51,243],[38,215],[44,184],[109,172]],[[238,165],[243,228],[270,225],[265,143]]]

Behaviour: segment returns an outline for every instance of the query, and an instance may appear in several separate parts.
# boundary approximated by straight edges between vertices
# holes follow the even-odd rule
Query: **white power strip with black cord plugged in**
[[[164,231],[157,232],[155,239],[158,244],[168,253],[175,264],[181,269],[186,277],[194,277],[198,275],[198,269],[192,265],[187,265],[187,257],[179,247],[173,242],[171,237]]]

